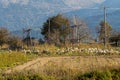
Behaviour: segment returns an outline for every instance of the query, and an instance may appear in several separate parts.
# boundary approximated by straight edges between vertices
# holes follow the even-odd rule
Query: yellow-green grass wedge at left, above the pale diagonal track
[[[0,69],[5,69],[9,67],[14,67],[16,65],[25,63],[29,60],[34,59],[37,57],[34,54],[24,54],[21,52],[15,52],[9,53],[8,51],[0,51]]]

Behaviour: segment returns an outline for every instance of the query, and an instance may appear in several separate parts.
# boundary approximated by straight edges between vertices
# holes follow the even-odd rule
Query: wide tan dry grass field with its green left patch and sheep
[[[22,78],[37,74],[60,80],[64,80],[64,77],[65,80],[72,80],[79,74],[120,68],[120,48],[104,49],[100,45],[85,46],[59,48],[54,45],[41,45],[36,47],[36,50],[39,50],[37,54],[1,51],[0,69],[5,69],[1,69],[0,73],[4,76],[22,75]],[[32,49],[28,50],[32,51]]]

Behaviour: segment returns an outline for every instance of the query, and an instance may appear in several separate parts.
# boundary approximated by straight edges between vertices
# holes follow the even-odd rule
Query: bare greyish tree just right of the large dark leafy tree
[[[90,39],[90,29],[87,24],[76,16],[73,17],[71,24],[73,25],[73,39],[77,40],[77,42],[88,42]]]

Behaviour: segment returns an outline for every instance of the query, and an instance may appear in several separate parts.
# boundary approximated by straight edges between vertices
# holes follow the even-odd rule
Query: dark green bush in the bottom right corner
[[[78,80],[120,80],[120,69],[111,71],[93,71],[84,75],[79,75]]]

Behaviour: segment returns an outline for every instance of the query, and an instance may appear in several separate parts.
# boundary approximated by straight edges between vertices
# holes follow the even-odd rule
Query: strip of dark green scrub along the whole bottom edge
[[[120,69],[92,71],[85,74],[77,74],[74,77],[52,77],[41,74],[16,74],[1,76],[1,80],[120,80]]]

